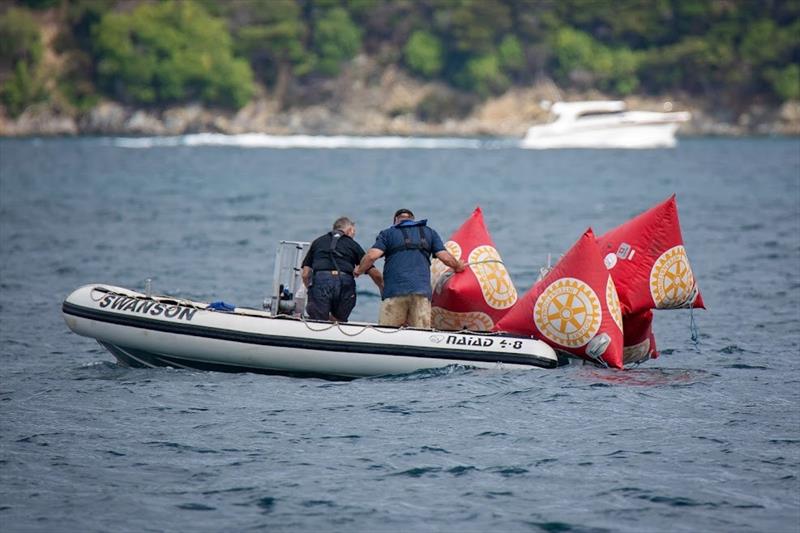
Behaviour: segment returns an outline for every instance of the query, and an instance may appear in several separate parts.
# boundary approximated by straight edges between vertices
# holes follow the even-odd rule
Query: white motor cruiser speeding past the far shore
[[[691,119],[685,111],[628,111],[617,100],[556,102],[550,111],[555,120],[529,128],[523,148],[669,148]]]

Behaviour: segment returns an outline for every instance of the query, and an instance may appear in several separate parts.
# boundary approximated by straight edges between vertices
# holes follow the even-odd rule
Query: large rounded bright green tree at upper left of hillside
[[[241,107],[253,94],[252,71],[233,57],[224,23],[188,0],[109,12],[93,36],[100,86],[122,100]]]

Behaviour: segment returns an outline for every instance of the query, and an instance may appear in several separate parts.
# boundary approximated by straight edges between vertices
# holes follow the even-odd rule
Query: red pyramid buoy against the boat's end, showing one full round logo
[[[622,368],[619,299],[591,228],[494,329],[532,335],[557,350]]]

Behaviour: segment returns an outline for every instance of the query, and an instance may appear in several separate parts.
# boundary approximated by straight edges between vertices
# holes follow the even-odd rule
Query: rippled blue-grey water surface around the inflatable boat
[[[524,151],[0,141],[3,531],[800,530],[800,142]],[[218,143],[219,144],[219,143]],[[548,254],[677,193],[707,311],[626,372],[328,382],[118,366],[90,282],[258,307],[278,239],[476,205],[524,292]],[[353,315],[379,297],[359,281]]]

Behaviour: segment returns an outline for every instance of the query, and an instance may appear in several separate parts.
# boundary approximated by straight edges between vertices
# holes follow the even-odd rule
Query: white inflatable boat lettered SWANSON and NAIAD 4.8
[[[534,369],[559,364],[552,348],[529,337],[308,320],[302,313],[282,312],[288,292],[278,289],[277,312],[270,312],[93,284],[70,294],[62,310],[72,331],[96,339],[133,367],[349,379],[448,365]]]

